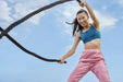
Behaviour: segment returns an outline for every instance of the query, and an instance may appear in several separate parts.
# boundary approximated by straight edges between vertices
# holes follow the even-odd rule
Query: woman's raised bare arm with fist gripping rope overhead
[[[89,4],[85,1],[82,1],[79,3],[81,7],[86,7],[86,9],[88,10],[89,14],[90,14],[90,17],[91,20],[94,21],[93,25],[96,27],[96,28],[99,28],[99,21],[97,20],[95,13],[93,12],[91,8],[89,7]]]

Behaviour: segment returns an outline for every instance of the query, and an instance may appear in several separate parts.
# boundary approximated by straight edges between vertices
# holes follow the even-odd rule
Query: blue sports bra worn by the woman
[[[90,42],[95,38],[100,38],[100,32],[97,31],[93,25],[90,25],[89,30],[86,32],[81,31],[81,38],[86,44],[87,42]]]

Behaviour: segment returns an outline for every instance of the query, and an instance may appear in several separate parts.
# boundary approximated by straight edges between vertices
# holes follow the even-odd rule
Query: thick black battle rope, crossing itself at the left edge
[[[44,57],[40,57],[39,55],[35,54],[35,52],[32,52],[29,50],[27,50],[26,48],[24,48],[22,45],[20,45],[14,38],[12,38],[8,33],[15,26],[17,26],[19,24],[25,22],[26,20],[28,20],[29,17],[34,16],[35,14],[41,12],[41,11],[45,11],[47,9],[50,9],[54,5],[58,5],[58,4],[61,4],[61,3],[64,3],[64,2],[67,2],[67,1],[73,1],[73,0],[60,0],[60,1],[56,1],[51,4],[48,4],[46,7],[42,7],[29,14],[27,14],[26,16],[22,17],[21,20],[12,23],[11,25],[9,25],[5,30],[3,30],[2,27],[0,27],[0,38],[2,38],[3,36],[7,36],[7,38],[9,38],[13,44],[15,44],[19,48],[21,48],[23,51],[32,55],[32,56],[35,56],[36,58],[38,59],[41,59],[41,60],[45,60],[45,61],[50,61],[50,62],[59,62],[60,60],[57,60],[57,59],[47,59],[47,58],[44,58]],[[79,0],[77,0],[77,2],[81,2]],[[64,61],[64,63],[66,63],[66,61]]]

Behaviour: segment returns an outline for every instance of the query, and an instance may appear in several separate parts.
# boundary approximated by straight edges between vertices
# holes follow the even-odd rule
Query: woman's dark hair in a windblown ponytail
[[[88,15],[87,11],[84,10],[84,9],[81,9],[81,10],[76,13],[76,15],[79,14],[79,13],[83,13],[83,12],[85,12],[85,13]],[[72,25],[73,25],[73,34],[72,34],[73,36],[76,34],[76,32],[83,30],[83,26],[81,26],[81,25],[78,24],[78,22],[77,22],[77,17],[75,17],[72,23],[67,23],[67,24],[72,24]]]

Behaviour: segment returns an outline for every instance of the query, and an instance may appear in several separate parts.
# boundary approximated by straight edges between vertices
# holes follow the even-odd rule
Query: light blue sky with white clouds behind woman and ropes
[[[29,12],[57,0],[0,0],[0,26],[7,28]],[[111,82],[123,82],[123,0],[84,0],[100,22],[101,51]],[[76,1],[48,9],[14,27],[9,34],[28,50],[60,59],[73,46],[72,22],[82,9]],[[85,8],[84,8],[85,9]],[[91,20],[89,20],[91,23]],[[0,39],[0,82],[66,82],[84,50],[79,43],[67,63],[46,62],[27,55],[7,37]],[[79,82],[98,82],[88,72]]]

